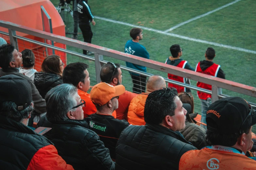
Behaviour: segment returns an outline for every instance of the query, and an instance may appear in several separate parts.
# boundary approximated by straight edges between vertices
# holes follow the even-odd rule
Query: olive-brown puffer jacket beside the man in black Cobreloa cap
[[[192,114],[190,114],[190,117],[193,119]],[[191,142],[197,149],[202,149],[205,147],[207,145],[205,139],[206,130],[203,127],[198,126],[195,123],[191,123],[187,120],[185,121],[185,124],[185,129],[179,131],[184,136],[184,138]]]

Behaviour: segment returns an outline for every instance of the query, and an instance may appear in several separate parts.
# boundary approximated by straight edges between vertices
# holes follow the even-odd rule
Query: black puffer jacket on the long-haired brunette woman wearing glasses
[[[57,74],[36,72],[34,83],[40,95],[45,98],[45,95],[52,88],[63,84],[62,78]]]

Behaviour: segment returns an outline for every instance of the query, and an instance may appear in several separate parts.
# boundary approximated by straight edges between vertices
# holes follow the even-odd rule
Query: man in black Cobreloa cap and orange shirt
[[[245,156],[253,146],[251,129],[255,110],[241,97],[226,97],[209,106],[206,140],[212,146],[186,152],[179,169],[255,169],[256,161]]]

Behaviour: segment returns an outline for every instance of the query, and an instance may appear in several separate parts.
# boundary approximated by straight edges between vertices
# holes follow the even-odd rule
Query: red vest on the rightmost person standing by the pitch
[[[214,76],[217,77],[218,71],[219,71],[220,65],[213,63],[213,65],[211,65],[210,67],[208,67],[206,70],[202,71],[201,67],[200,67],[200,62],[196,65],[196,72],[198,73],[203,73],[203,74],[207,74],[210,76]],[[197,87],[201,87],[207,90],[212,90],[212,85],[210,84],[206,84],[206,83],[202,83],[197,81],[196,84]],[[211,94],[207,94],[207,93],[203,93],[203,92],[199,92],[197,91],[197,95],[200,99],[203,100],[207,100],[208,97],[212,98]]]

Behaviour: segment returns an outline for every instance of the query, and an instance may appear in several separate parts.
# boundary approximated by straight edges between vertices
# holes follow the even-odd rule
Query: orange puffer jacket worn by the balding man
[[[132,125],[145,125],[144,108],[148,94],[141,93],[134,97],[128,108],[128,122]]]

